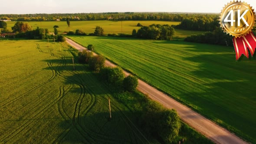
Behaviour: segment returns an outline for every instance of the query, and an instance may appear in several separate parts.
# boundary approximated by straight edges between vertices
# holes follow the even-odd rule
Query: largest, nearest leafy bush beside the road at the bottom
[[[156,101],[146,103],[142,118],[145,131],[161,137],[165,143],[171,143],[179,134],[181,120],[177,111],[166,109]]]

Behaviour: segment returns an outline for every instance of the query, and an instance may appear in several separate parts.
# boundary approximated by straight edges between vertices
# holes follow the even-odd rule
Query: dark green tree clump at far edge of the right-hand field
[[[142,26],[138,29],[138,32],[133,29],[132,36],[142,39],[171,40],[174,33],[174,28],[169,25],[152,24],[150,26]]]

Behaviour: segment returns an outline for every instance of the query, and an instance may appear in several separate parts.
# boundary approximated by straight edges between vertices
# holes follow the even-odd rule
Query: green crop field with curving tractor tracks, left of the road
[[[109,91],[88,65],[77,63],[77,50],[59,46],[0,39],[0,143],[157,142],[138,127],[144,95]],[[177,138],[210,143],[185,124]]]

